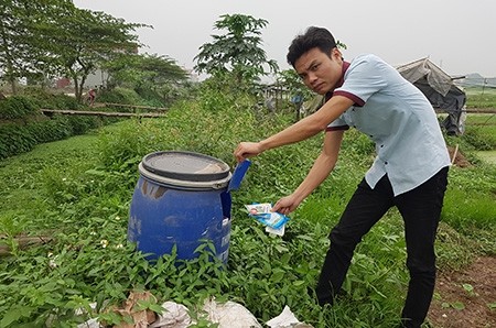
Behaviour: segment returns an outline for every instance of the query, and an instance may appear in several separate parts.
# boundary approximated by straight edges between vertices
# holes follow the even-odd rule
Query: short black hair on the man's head
[[[288,64],[294,67],[298,58],[314,47],[330,56],[331,50],[336,47],[336,41],[328,30],[310,26],[304,34],[296,35],[291,42],[288,48]]]

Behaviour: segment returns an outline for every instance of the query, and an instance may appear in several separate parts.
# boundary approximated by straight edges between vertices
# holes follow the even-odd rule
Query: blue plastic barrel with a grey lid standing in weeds
[[[128,240],[154,260],[172,253],[191,260],[204,240],[227,262],[230,237],[229,166],[192,152],[157,152],[139,164],[131,200]]]

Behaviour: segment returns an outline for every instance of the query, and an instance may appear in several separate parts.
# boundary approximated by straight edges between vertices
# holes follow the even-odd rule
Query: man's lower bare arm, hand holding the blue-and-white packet
[[[325,181],[336,165],[341,143],[343,141],[343,130],[325,133],[322,152],[313,163],[313,166],[305,179],[293,192],[293,194],[279,199],[272,208],[273,211],[284,215],[292,212],[303,201],[303,199],[305,199],[320,184]]]

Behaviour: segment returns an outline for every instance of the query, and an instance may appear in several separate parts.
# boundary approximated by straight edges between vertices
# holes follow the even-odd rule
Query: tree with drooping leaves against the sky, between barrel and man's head
[[[200,47],[195,56],[195,70],[215,74],[231,72],[238,80],[257,79],[270,72],[276,72],[276,61],[268,59],[261,47],[260,30],[268,21],[245,14],[224,14],[214,24],[216,30],[227,30],[223,35],[212,35],[214,41]],[[265,67],[269,68],[266,72]]]

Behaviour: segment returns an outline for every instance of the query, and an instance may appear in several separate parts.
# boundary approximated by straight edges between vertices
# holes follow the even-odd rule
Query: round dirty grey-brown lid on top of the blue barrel
[[[215,157],[186,151],[148,154],[142,167],[153,175],[188,182],[213,182],[229,177],[229,165]]]

